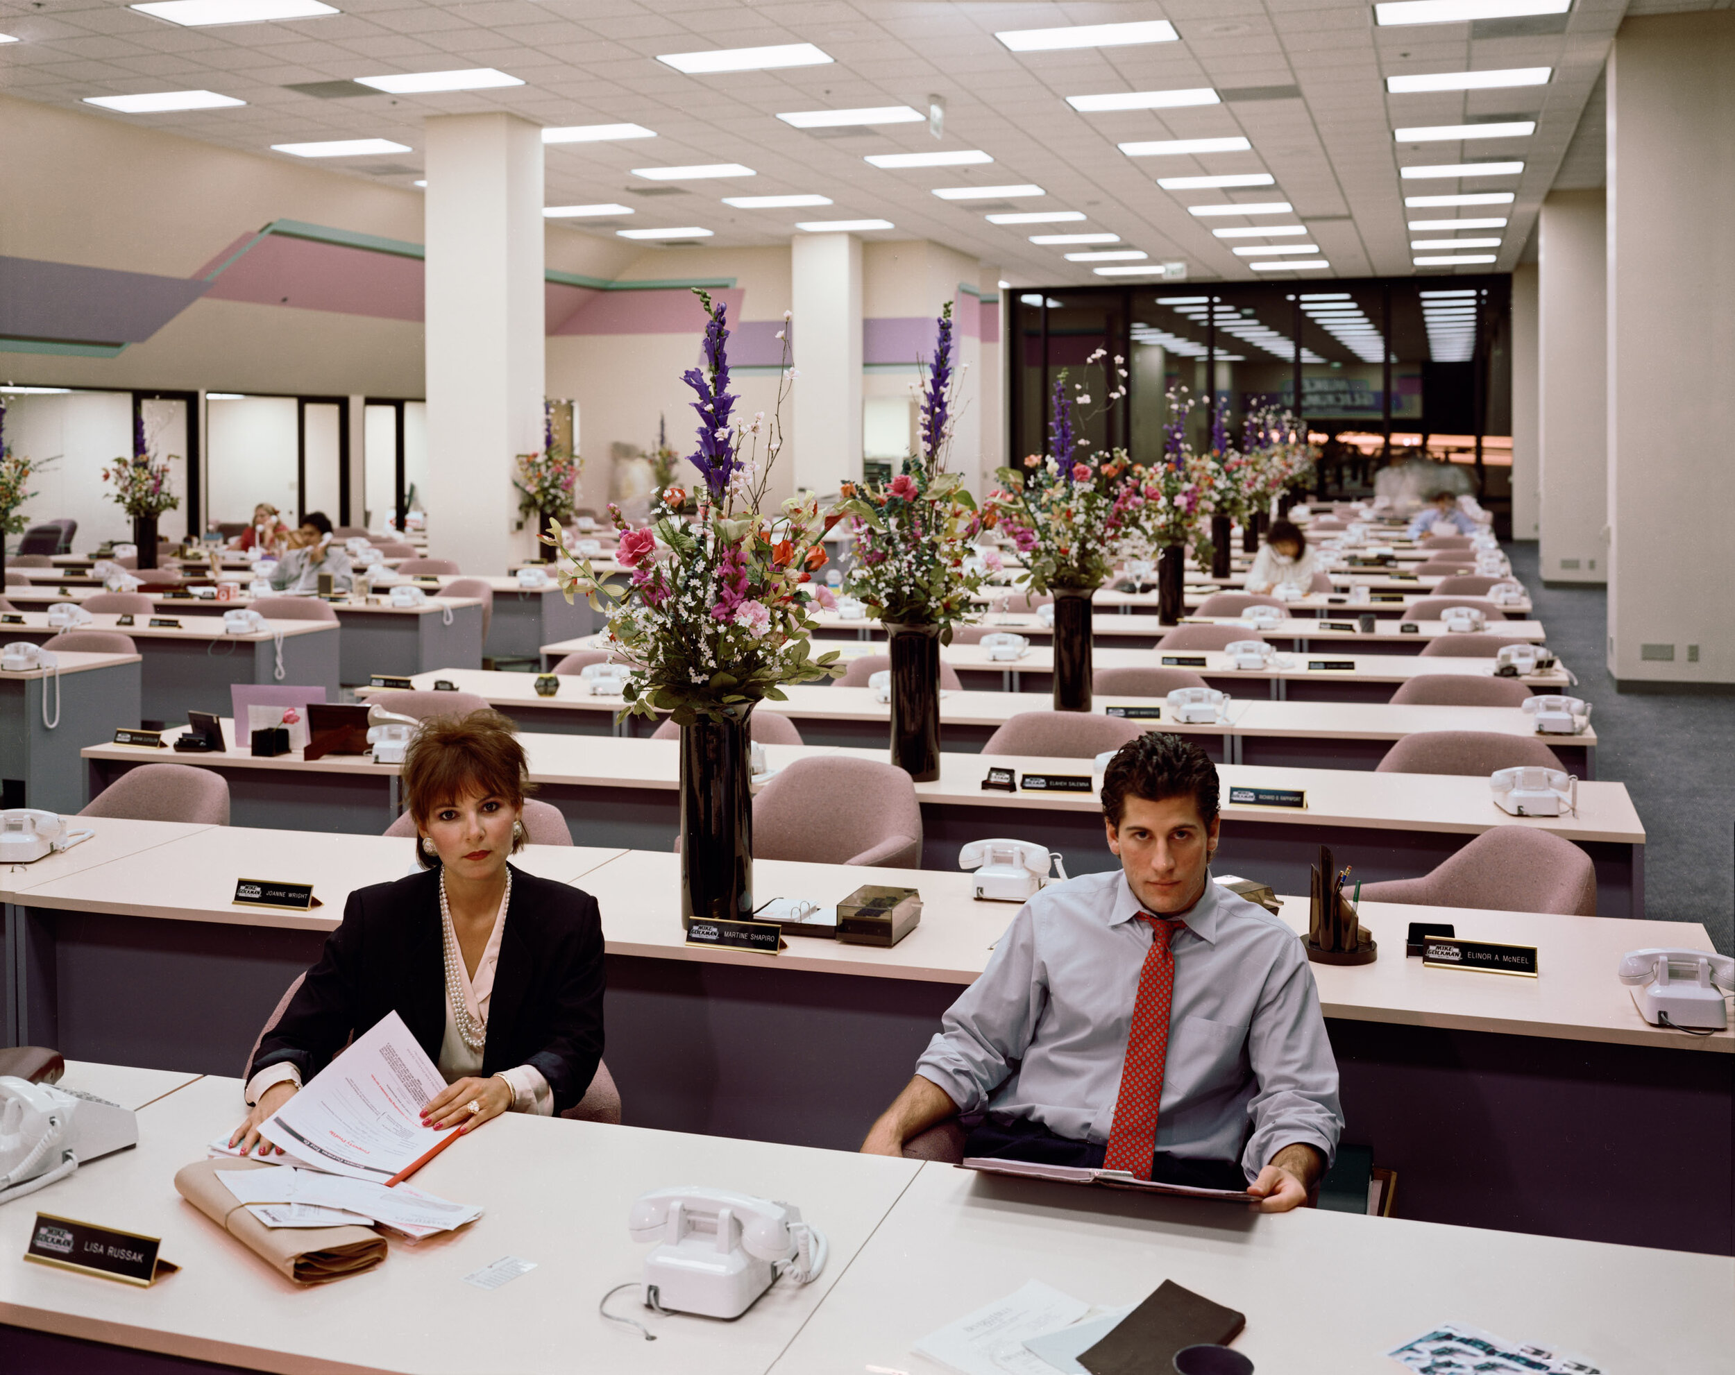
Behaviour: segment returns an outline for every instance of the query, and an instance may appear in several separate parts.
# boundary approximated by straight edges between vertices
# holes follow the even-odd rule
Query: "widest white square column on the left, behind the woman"
[[[512,485],[543,440],[543,147],[514,114],[427,121],[429,553],[503,574],[531,553]]]

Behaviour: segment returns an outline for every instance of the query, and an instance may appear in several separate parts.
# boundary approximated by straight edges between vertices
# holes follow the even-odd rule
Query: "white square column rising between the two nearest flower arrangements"
[[[798,234],[789,244],[795,314],[795,487],[831,494],[862,475],[862,243]]]

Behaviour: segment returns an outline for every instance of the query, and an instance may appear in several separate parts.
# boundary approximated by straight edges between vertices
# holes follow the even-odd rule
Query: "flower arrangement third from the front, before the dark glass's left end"
[[[1084,366],[1107,357],[1091,354]],[[1103,406],[1126,395],[1124,361],[1116,355],[1119,383]],[[1070,390],[1069,390],[1070,387]],[[1048,453],[1029,454],[1022,466],[999,468],[1001,487],[989,494],[989,517],[1006,527],[1029,569],[1029,588],[1100,588],[1114,572],[1121,544],[1129,534],[1128,515],[1138,506],[1123,501],[1133,479],[1124,449],[1084,454],[1090,440],[1079,437],[1079,407],[1090,406],[1086,383],[1069,383],[1062,369],[1050,397]]]

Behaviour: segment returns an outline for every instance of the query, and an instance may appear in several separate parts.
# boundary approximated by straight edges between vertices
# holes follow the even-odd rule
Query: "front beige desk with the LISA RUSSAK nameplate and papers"
[[[482,1205],[479,1221],[420,1245],[392,1241],[378,1269],[304,1288],[174,1191],[175,1170],[203,1158],[205,1143],[241,1113],[239,1080],[201,1078],[139,1113],[137,1150],[92,1162],[35,1196],[35,1207],[161,1236],[179,1274],[134,1288],[9,1261],[0,1321],[291,1375],[567,1375],[578,1366],[758,1375],[920,1170],[911,1160],[510,1113],[416,1181]],[[597,1302],[642,1274],[645,1247],[626,1233],[633,1200],[689,1183],[800,1202],[826,1231],[831,1257],[817,1281],[779,1283],[734,1323],[635,1311],[658,1333],[645,1342],[602,1320]],[[23,1254],[35,1207],[0,1210],[9,1257]],[[536,1269],[489,1294],[462,1283],[501,1255]],[[626,1307],[632,1295],[616,1295],[611,1311]],[[61,1368],[76,1368],[78,1349],[59,1352]]]

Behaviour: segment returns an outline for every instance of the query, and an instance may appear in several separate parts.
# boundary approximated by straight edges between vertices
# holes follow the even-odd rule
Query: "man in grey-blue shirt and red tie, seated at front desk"
[[[862,1151],[900,1155],[982,1115],[966,1157],[1246,1189],[1287,1212],[1343,1129],[1301,942],[1211,883],[1218,779],[1195,744],[1140,735],[1109,763],[1102,806],[1121,869],[1018,910]]]

